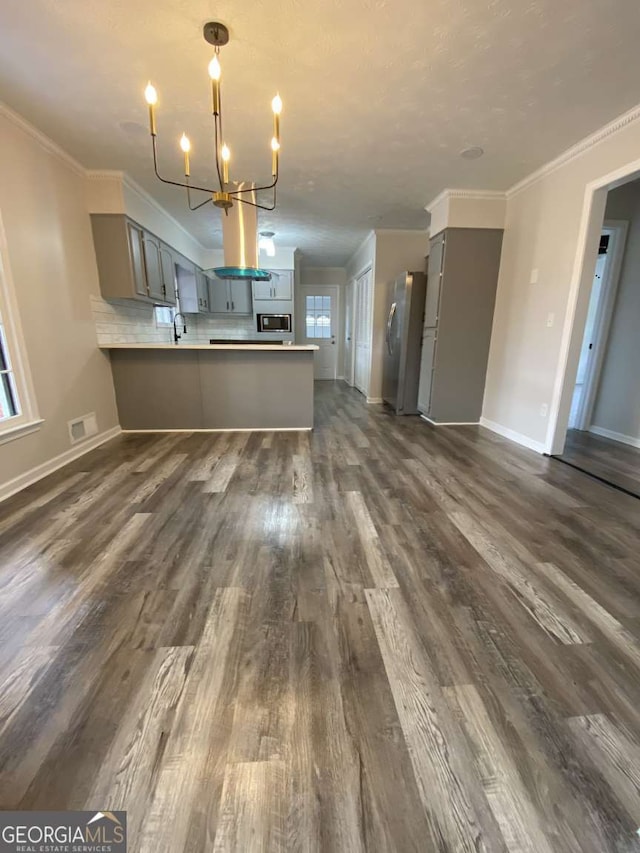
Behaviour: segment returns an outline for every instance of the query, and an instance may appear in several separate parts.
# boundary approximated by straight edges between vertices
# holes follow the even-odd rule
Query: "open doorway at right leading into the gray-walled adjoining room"
[[[640,179],[608,189],[603,207],[597,251],[595,234],[585,251],[595,273],[582,285],[583,334],[555,458],[640,497]]]

